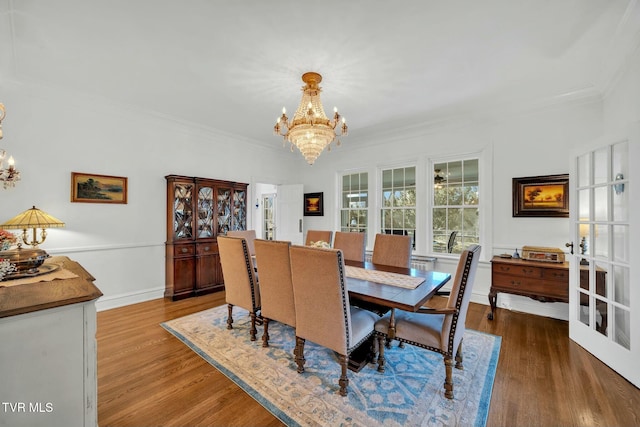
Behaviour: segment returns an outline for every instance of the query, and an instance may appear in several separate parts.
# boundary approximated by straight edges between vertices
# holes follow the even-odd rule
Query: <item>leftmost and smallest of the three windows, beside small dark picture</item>
[[[367,232],[369,208],[369,177],[367,172],[342,176],[342,207],[340,230]]]

